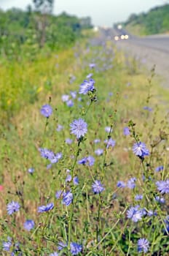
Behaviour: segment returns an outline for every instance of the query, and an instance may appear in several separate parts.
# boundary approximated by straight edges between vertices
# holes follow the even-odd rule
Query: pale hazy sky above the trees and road
[[[0,7],[25,9],[31,0],[0,0]],[[131,13],[147,12],[152,7],[167,3],[168,0],[55,0],[54,13],[66,11],[78,17],[90,16],[93,25],[112,26],[125,21]]]

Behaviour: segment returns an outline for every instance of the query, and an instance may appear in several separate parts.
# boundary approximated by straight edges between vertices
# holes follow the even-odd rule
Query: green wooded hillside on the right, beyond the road
[[[145,34],[160,34],[169,31],[169,4],[154,7],[149,12],[139,15],[132,14],[125,26],[143,26]]]

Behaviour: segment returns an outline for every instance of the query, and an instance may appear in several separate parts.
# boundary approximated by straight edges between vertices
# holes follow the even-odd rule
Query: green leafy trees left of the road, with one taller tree
[[[14,56],[25,50],[34,55],[39,48],[66,48],[92,28],[91,19],[77,18],[63,12],[52,15],[53,0],[33,0],[26,11],[0,10],[0,55]]]

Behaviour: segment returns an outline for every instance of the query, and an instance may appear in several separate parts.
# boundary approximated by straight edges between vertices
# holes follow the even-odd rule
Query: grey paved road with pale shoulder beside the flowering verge
[[[120,34],[115,29],[106,31],[109,39],[114,40],[114,36]],[[121,34],[128,34],[121,31]],[[148,68],[152,69],[156,65],[156,74],[161,78],[162,86],[169,89],[169,35],[152,35],[148,37],[134,37],[129,34],[129,39],[114,40],[117,48],[125,53],[136,56]]]

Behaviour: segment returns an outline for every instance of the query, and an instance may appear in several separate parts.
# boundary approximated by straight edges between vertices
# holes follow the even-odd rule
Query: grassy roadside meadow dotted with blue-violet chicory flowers
[[[155,67],[133,72],[100,34],[1,66],[0,255],[167,256],[169,104]]]

